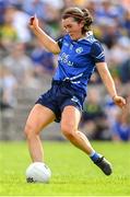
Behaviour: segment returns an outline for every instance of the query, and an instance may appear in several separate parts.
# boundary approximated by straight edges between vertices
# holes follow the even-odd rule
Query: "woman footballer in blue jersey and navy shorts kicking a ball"
[[[66,34],[56,42],[39,27],[36,15],[31,18],[33,33],[44,47],[58,54],[59,58],[51,89],[36,101],[26,121],[25,135],[32,161],[43,162],[39,132],[54,120],[60,121],[64,137],[84,151],[106,175],[110,175],[111,164],[93,149],[85,135],[79,130],[87,83],[95,68],[115,104],[119,107],[126,105],[126,100],[117,94],[102,45],[93,36],[92,23],[87,9],[67,9],[62,14]]]

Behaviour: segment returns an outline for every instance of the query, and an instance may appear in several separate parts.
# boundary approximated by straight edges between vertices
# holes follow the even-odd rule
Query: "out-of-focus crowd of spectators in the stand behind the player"
[[[40,27],[52,38],[62,34],[61,14],[69,7],[87,8],[93,31],[105,49],[106,61],[118,93],[128,105],[120,111],[103,89],[95,72],[90,82],[81,127],[92,139],[130,139],[130,0],[0,0],[0,106],[15,107],[19,86],[43,86],[51,77],[57,57],[47,51],[28,27],[36,14]]]

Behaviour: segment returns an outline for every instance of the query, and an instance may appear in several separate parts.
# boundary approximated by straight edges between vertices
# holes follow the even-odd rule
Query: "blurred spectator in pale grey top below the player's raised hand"
[[[31,58],[25,54],[25,45],[17,43],[11,54],[3,58],[3,63],[11,70],[19,85],[29,85],[33,77]]]

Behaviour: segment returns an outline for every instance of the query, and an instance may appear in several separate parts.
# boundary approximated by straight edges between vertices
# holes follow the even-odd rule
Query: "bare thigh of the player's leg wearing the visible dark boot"
[[[61,130],[71,132],[78,130],[81,112],[74,106],[66,106],[61,115]]]

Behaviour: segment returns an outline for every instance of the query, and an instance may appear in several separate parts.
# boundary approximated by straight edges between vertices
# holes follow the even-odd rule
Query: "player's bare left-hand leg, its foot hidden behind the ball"
[[[44,151],[39,132],[48,124],[54,121],[55,114],[49,108],[36,104],[29,113],[25,125],[25,135],[28,143],[28,150],[33,162],[43,162]]]

